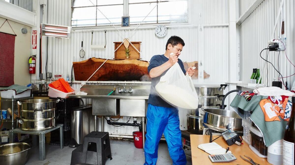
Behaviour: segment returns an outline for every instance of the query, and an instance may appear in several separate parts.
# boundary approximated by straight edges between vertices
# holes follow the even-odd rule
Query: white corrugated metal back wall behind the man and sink
[[[129,38],[130,41],[141,41],[141,58],[150,60],[153,55],[164,53],[165,44],[172,35],[177,35],[185,41],[185,47],[181,52],[180,58],[183,61],[202,61],[203,69],[210,75],[205,79],[209,83],[224,83],[228,81],[228,1],[227,0],[189,0],[189,25],[168,26],[168,35],[163,38],[155,36],[154,27],[138,29]],[[48,22],[71,26],[71,0],[48,1]],[[200,27],[202,30],[200,30]],[[131,30],[129,30],[131,29]],[[124,36],[129,36],[132,28],[120,30]],[[93,44],[104,44],[104,29],[92,29]],[[116,30],[107,30],[106,49],[91,50],[91,30],[75,30],[71,33],[71,39],[49,38],[48,44],[48,64],[47,70],[60,72],[64,75],[71,73],[73,61],[81,61],[91,57],[108,58],[114,51],[115,41],[123,41]],[[202,34],[200,36],[200,34]],[[81,41],[86,52],[85,58],[79,57]],[[204,42],[199,46],[199,42]],[[222,44],[220,44],[222,42]],[[204,50],[203,55],[199,55],[200,49]],[[201,51],[202,52],[202,51]],[[217,55],[217,56],[216,56]],[[43,70],[45,71],[46,42],[43,44]],[[113,56],[110,57],[111,59]],[[218,70],[218,71],[216,71]],[[198,81],[196,81],[197,83]],[[74,84],[79,87],[79,84]],[[181,129],[186,129],[187,110],[180,110]],[[126,122],[127,117],[120,119],[119,122]],[[132,119],[131,119],[132,120]],[[139,121],[141,121],[139,119]],[[100,120],[99,120],[100,123]],[[99,124],[100,125],[100,124]],[[100,128],[100,126],[99,126]],[[131,135],[134,127],[113,127],[104,124],[104,131],[111,134]]]

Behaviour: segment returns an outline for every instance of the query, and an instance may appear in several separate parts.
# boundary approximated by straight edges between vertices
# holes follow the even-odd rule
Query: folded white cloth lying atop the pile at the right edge
[[[254,93],[262,96],[293,96],[294,93],[289,90],[283,90],[279,87],[263,87],[253,90]]]

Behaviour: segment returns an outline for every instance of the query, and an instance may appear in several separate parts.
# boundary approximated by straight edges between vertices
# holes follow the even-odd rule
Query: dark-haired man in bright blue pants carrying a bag
[[[182,61],[178,58],[183,46],[184,42],[180,37],[171,36],[166,43],[165,54],[154,55],[148,66],[152,84],[148,99],[144,165],[155,165],[157,163],[158,147],[163,133],[173,165],[186,164],[186,156],[182,149],[178,109],[163,100],[155,90],[155,85],[160,81],[160,78],[175,63],[180,65],[183,74],[194,75],[195,70],[192,67],[185,70]],[[171,53],[174,54],[170,55]]]

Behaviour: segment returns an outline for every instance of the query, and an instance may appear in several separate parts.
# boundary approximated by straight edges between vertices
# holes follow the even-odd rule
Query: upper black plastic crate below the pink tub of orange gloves
[[[57,98],[50,97],[50,99],[57,99]],[[70,115],[71,109],[73,107],[78,107],[79,105],[80,105],[79,99],[73,99],[73,98],[60,99],[60,101],[56,103],[56,112],[59,115]]]

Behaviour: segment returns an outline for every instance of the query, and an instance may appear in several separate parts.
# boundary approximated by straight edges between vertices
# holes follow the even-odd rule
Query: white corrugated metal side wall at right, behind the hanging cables
[[[240,0],[240,15],[252,4],[252,2],[245,2]],[[285,37],[286,37],[286,54],[291,62],[294,64],[294,1],[285,1],[286,19],[285,19]],[[253,68],[260,68],[260,73],[264,65],[264,60],[260,58],[260,51],[267,48],[273,31],[273,26],[277,16],[280,1],[264,0],[241,24],[240,28],[240,80],[243,83],[248,83],[252,74]],[[275,38],[280,36],[280,20],[275,31]],[[263,58],[266,58],[266,50],[262,53]],[[270,52],[268,60],[278,69],[278,52]],[[293,65],[287,61],[285,51],[281,51],[279,55],[280,73],[285,76],[295,73]],[[262,74],[262,83],[267,84],[266,68]],[[278,81],[278,73],[273,67],[268,64],[268,85],[271,86],[272,81]],[[294,76],[284,78],[288,82],[288,87],[292,85]],[[291,84],[291,85],[290,85]]]

